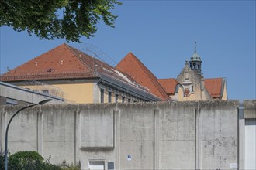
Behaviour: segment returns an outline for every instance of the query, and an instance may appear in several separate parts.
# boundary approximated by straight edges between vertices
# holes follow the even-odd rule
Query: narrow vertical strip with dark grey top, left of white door
[[[237,162],[238,169],[244,169],[244,100],[239,100],[237,112]]]

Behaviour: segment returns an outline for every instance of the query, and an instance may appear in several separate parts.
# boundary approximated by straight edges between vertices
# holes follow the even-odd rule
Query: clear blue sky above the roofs
[[[91,39],[119,63],[132,52],[157,78],[176,78],[197,42],[205,78],[226,77],[229,99],[255,99],[255,1],[122,1],[116,28]],[[64,43],[2,27],[1,73]],[[85,44],[69,43],[82,49]]]

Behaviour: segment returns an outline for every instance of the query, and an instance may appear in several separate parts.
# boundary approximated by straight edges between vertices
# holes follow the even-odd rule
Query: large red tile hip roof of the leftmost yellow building
[[[95,64],[98,66],[95,67]],[[2,81],[60,80],[74,78],[97,78],[107,75],[137,87],[130,76],[119,73],[114,67],[82,53],[67,44],[62,44],[47,53],[31,59],[0,76]],[[144,87],[140,87],[143,89]],[[145,89],[145,88],[144,88]]]

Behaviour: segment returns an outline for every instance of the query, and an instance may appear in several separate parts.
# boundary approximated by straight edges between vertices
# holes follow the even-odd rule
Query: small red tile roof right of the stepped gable
[[[205,79],[205,87],[213,98],[220,98],[223,91],[223,78]]]

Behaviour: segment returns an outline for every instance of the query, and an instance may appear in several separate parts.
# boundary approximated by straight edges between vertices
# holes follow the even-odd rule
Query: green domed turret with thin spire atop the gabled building
[[[192,57],[190,58],[190,61],[189,61],[189,66],[192,70],[195,71],[195,73],[201,77],[202,76],[202,60],[199,56],[199,54],[196,52],[196,42],[195,42],[195,51],[192,55]]]

